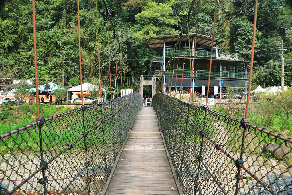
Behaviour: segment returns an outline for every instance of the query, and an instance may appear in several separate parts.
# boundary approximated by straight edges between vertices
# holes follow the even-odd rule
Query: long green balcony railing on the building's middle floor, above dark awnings
[[[163,70],[156,70],[155,75],[161,76],[163,74]],[[171,77],[191,77],[191,70],[181,70],[181,69],[169,69],[165,76],[170,75]],[[249,75],[249,74],[248,74]],[[247,78],[248,78],[247,75]],[[193,77],[209,77],[209,70],[194,70]],[[211,71],[211,78],[232,78],[232,79],[246,79],[245,72],[227,72],[227,71]]]

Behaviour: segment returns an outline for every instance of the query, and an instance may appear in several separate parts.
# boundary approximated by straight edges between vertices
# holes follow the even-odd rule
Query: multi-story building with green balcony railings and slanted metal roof
[[[212,37],[197,34],[194,54],[195,35],[196,34],[183,34],[180,46],[177,46],[173,55],[173,60],[170,65],[171,68],[165,74],[164,92],[179,90],[181,83],[183,83],[183,89],[188,88],[188,90],[190,90],[193,58],[193,91],[200,93],[203,91],[202,86],[206,86],[207,88]],[[150,49],[156,49],[157,53],[156,55],[152,55],[152,65],[156,77],[160,77],[165,70],[178,39],[179,35],[174,34],[153,36],[148,40],[147,45]],[[214,86],[218,87],[218,94],[215,95],[217,98],[222,98],[226,86],[232,86],[235,90],[241,88],[245,92],[247,90],[247,66],[249,61],[238,60],[236,55],[220,54],[219,44],[223,42],[225,42],[225,40],[214,38],[209,91],[210,97],[214,95]],[[184,70],[183,63],[185,64]],[[183,82],[181,82],[182,76]]]

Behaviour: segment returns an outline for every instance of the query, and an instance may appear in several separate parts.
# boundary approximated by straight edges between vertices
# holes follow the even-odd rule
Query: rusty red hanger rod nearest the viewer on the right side
[[[255,49],[255,40],[256,40],[256,21],[257,21],[257,15],[258,15],[258,0],[256,0],[256,8],[255,8],[255,15],[254,15],[254,21],[253,21],[253,42],[251,45],[251,65],[249,69],[249,80],[248,80],[248,91],[247,91],[247,97],[246,97],[246,110],[245,110],[245,118],[247,119],[248,115],[248,105],[249,105],[249,96],[251,93],[251,77],[253,72],[253,55],[254,55],[254,49]]]

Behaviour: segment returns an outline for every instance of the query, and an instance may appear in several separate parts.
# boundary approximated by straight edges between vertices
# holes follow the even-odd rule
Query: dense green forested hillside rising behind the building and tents
[[[198,2],[198,1],[197,1]],[[191,0],[113,0],[107,1],[122,47],[130,59],[135,75],[147,75],[155,50],[146,46],[153,35],[178,34]],[[195,32],[199,12],[198,33],[212,35],[214,0],[201,0],[194,6],[190,31]],[[221,53],[235,54],[250,60],[254,0],[218,0],[215,37],[225,39]],[[107,19],[98,1],[100,52],[108,56]],[[94,0],[80,0],[81,47],[84,78],[98,76],[97,25]],[[65,51],[65,84],[77,84],[78,30],[77,0],[37,0],[36,30],[39,77],[62,78],[62,52]],[[285,51],[285,84],[292,80],[292,3],[290,0],[260,0],[256,33],[253,86],[280,85],[280,41]],[[109,26],[112,60],[115,42]],[[271,49],[272,48],[272,49]],[[119,54],[117,54],[119,55]],[[32,1],[0,1],[0,77],[32,78],[33,64]],[[108,60],[107,60],[108,61]],[[102,73],[108,74],[106,60]],[[139,68],[138,68],[139,67]],[[142,68],[141,68],[142,67]]]

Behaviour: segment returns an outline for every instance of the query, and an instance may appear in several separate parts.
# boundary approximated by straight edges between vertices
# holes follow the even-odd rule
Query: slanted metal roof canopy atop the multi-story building
[[[188,34],[183,34],[183,38],[181,41],[188,41]],[[196,33],[190,34],[190,41],[192,42],[193,39],[195,39]],[[179,34],[171,34],[171,35],[158,35],[158,36],[152,36],[147,41],[147,45],[150,47],[150,49],[159,49],[163,48],[164,40],[165,42],[175,42],[179,39]],[[212,45],[212,37],[209,37],[207,35],[203,34],[197,34],[197,44],[200,44],[200,48],[211,48]],[[218,39],[214,37],[214,46],[220,43],[225,42],[223,39]]]

